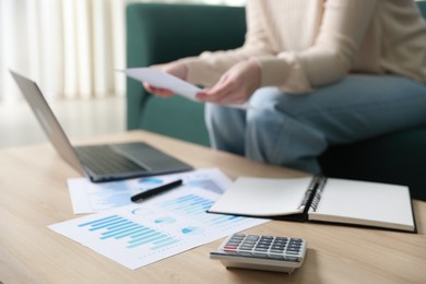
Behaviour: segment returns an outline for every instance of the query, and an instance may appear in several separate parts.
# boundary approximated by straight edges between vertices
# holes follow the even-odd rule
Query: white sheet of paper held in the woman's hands
[[[196,98],[197,93],[202,91],[200,87],[192,85],[177,76],[163,72],[155,68],[142,67],[142,68],[129,68],[126,70],[117,70],[123,72],[126,75],[141,81],[147,82],[153,86],[166,88],[189,98],[194,102],[200,102]],[[228,107],[247,109],[248,105],[227,105]]]

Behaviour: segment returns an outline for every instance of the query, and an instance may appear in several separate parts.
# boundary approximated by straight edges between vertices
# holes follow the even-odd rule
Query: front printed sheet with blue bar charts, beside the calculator
[[[225,185],[209,179],[209,170],[199,177],[184,177],[182,187],[142,203],[66,221],[49,228],[129,269],[138,269],[268,222],[206,213]]]

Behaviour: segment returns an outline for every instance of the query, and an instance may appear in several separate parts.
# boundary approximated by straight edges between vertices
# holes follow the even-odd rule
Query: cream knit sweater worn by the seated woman
[[[213,85],[250,58],[261,66],[262,86],[292,93],[347,73],[426,82],[426,22],[413,0],[247,0],[246,17],[242,47],[181,59],[189,82]]]

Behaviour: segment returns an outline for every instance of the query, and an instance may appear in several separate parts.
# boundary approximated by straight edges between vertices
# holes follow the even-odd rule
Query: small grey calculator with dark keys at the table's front
[[[234,234],[210,258],[226,268],[293,273],[305,260],[307,242],[301,238]]]

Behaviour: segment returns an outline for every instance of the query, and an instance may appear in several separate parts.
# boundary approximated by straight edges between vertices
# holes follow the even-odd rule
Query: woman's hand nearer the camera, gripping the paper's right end
[[[260,66],[246,60],[232,67],[211,88],[204,88],[197,98],[221,105],[241,105],[261,83]]]

